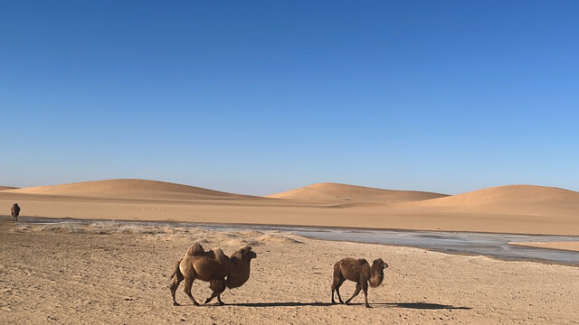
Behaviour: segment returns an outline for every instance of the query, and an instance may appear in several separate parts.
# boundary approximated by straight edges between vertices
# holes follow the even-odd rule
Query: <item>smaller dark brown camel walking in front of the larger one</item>
[[[382,258],[375,259],[372,266],[368,264],[364,258],[354,259],[354,258],[344,258],[334,265],[334,281],[332,283],[332,303],[334,301],[334,291],[337,292],[337,299],[341,303],[348,304],[358,293],[360,289],[364,291],[365,307],[370,308],[368,304],[368,282],[370,286],[375,288],[382,284],[384,280],[384,269],[388,267]],[[352,296],[346,300],[342,301],[340,297],[340,286],[344,281],[350,280],[356,283],[356,291]]]

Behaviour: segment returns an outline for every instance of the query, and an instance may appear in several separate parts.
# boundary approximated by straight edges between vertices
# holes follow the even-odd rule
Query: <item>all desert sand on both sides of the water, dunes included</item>
[[[21,221],[9,217],[22,207]],[[496,324],[579,322],[579,268],[420,248],[321,241],[276,231],[131,225],[115,220],[579,235],[579,193],[512,185],[458,195],[321,183],[254,197],[162,181],[0,189],[0,323]],[[82,224],[26,218],[85,218]],[[24,221],[23,221],[24,220]],[[173,306],[170,275],[189,246],[250,245],[250,280],[224,306]],[[576,250],[577,243],[524,243]],[[384,283],[330,303],[333,265],[381,257]],[[346,282],[342,296],[355,284]],[[210,295],[195,282],[195,298]]]

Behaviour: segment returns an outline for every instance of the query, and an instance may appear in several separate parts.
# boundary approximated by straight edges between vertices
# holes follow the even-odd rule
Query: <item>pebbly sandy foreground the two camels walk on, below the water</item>
[[[171,267],[193,242],[231,254],[253,246],[252,277],[225,306],[171,303]],[[21,324],[576,324],[579,268],[446,255],[418,248],[327,242],[283,233],[199,228],[21,225],[0,219],[0,323]],[[390,267],[352,305],[331,305],[342,257]],[[349,296],[354,283],[345,283]],[[199,300],[207,283],[195,283]]]

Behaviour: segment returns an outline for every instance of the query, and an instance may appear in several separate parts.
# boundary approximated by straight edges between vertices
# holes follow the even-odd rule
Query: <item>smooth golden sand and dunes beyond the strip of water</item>
[[[269,197],[144,180],[0,190],[24,217],[579,235],[579,192],[532,185],[447,196],[321,183]]]

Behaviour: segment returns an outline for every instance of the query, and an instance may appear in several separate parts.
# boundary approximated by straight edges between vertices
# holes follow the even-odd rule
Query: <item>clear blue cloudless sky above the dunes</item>
[[[579,190],[577,1],[10,1],[0,185]]]

